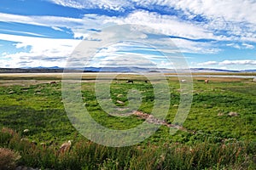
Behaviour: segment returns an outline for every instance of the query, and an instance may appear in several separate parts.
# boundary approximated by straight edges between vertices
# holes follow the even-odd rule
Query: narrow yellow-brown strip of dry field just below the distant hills
[[[65,73],[70,74],[71,77],[77,77],[76,74],[80,75],[80,73]],[[116,77],[114,77],[116,74],[118,74]],[[160,73],[148,73],[146,76],[144,75],[136,75],[132,73],[83,73],[81,82],[95,82],[96,79],[100,80],[110,80],[114,79],[119,82],[124,82],[126,80],[133,80],[135,82],[144,82],[147,80],[146,77],[151,77],[151,80],[154,80],[154,82],[160,82],[159,77]],[[178,81],[177,77],[168,77],[170,75],[175,76],[177,74],[175,73],[166,73],[166,79],[170,81]],[[209,82],[250,82],[250,79],[248,78],[241,78],[241,77],[211,77],[211,75],[214,75],[213,73],[209,74],[203,74],[203,73],[193,73],[194,81],[197,82],[204,82],[206,79],[209,80]],[[200,77],[202,75],[202,77]],[[204,75],[209,75],[209,77],[203,77]],[[223,73],[216,73],[215,75],[224,75]],[[230,75],[226,74],[225,75]],[[242,76],[244,74],[232,74],[232,75],[238,75]],[[0,74],[0,86],[29,86],[39,83],[49,83],[49,82],[60,82],[62,79],[63,73],[1,73]],[[246,76],[252,76],[252,74],[246,74]],[[114,80],[114,81],[115,81]],[[252,82],[252,81],[251,81]]]

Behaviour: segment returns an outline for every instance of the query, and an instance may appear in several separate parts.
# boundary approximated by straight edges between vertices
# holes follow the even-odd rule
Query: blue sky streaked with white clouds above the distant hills
[[[255,0],[1,0],[0,67],[65,67],[108,34],[118,41],[106,37],[87,66],[172,68],[163,55],[175,47],[190,68],[256,69],[255,14]],[[139,27],[136,43],[126,25]]]

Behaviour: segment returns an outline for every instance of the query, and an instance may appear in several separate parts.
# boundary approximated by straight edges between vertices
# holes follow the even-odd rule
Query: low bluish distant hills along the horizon
[[[0,73],[50,73],[50,72],[63,72],[64,68],[53,67],[26,67],[26,68],[0,68]],[[141,67],[86,67],[86,68],[70,68],[65,71],[76,72],[176,72],[173,69],[166,68],[141,68]],[[185,70],[183,70],[185,71]],[[223,69],[209,69],[209,68],[191,68],[191,72],[256,72],[256,70],[242,70],[230,71]]]

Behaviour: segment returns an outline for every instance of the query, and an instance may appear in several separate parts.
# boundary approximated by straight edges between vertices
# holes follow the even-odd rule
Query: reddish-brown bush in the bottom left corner
[[[20,154],[13,150],[0,148],[0,170],[15,169],[16,161],[20,159]]]

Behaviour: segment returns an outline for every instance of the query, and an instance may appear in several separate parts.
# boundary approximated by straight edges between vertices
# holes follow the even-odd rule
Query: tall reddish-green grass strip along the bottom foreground
[[[51,169],[255,169],[255,144],[154,144],[112,148],[80,139],[70,150],[60,144],[33,144],[3,128],[0,146],[20,154],[18,165]]]

